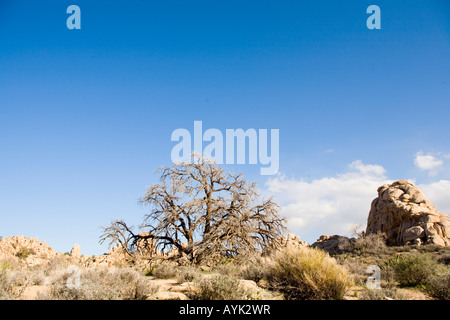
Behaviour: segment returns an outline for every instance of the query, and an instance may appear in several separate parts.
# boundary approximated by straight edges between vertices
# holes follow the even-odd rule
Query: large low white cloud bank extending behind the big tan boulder
[[[335,177],[308,182],[279,175],[266,187],[281,206],[280,214],[288,219],[289,232],[312,243],[322,234],[348,236],[355,225],[365,228],[378,187],[394,181],[385,173],[380,165],[358,160],[349,165],[348,172]],[[439,211],[450,213],[450,181],[421,184],[419,188]]]

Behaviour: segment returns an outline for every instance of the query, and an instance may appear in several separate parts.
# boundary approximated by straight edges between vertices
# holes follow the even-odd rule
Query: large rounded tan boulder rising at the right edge
[[[450,218],[439,212],[414,184],[400,180],[378,188],[366,234],[386,234],[389,245],[450,246]]]

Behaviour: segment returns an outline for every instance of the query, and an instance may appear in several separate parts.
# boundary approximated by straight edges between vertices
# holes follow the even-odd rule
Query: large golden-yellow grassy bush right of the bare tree
[[[353,283],[347,269],[317,248],[284,248],[267,268],[269,286],[288,300],[340,300]]]

